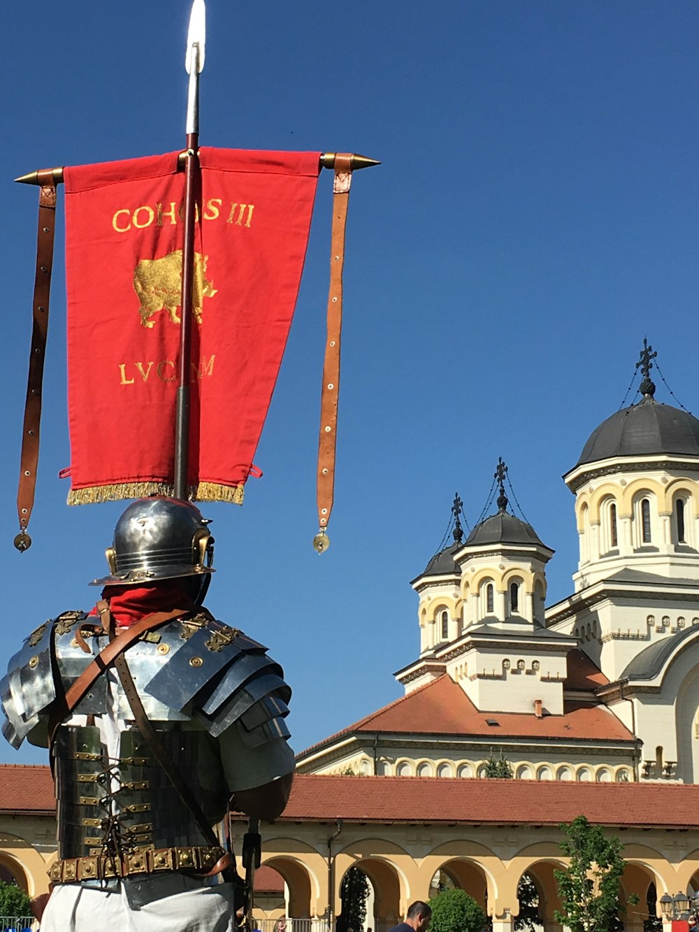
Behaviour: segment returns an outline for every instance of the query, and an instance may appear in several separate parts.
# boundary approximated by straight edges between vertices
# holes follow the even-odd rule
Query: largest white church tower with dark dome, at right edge
[[[609,684],[599,698],[642,741],[640,777],[699,782],[699,420],[655,400],[643,341],[637,404],[590,435],[575,495],[575,592],[546,611]]]

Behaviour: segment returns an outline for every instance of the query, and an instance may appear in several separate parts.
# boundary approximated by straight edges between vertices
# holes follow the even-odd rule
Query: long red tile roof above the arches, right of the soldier
[[[297,774],[281,821],[699,828],[699,786]]]

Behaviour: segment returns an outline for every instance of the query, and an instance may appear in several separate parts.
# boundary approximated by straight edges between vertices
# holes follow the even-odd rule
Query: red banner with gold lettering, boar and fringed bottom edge
[[[64,171],[73,504],[172,491],[177,156]],[[199,158],[189,483],[199,500],[239,501],[294,313],[320,154]]]

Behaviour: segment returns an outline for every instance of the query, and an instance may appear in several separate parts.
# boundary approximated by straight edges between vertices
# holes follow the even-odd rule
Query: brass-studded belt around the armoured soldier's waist
[[[145,848],[119,857],[66,857],[51,865],[48,877],[54,884],[79,884],[85,880],[134,877],[165,870],[212,876],[226,869],[228,857],[218,847]]]

